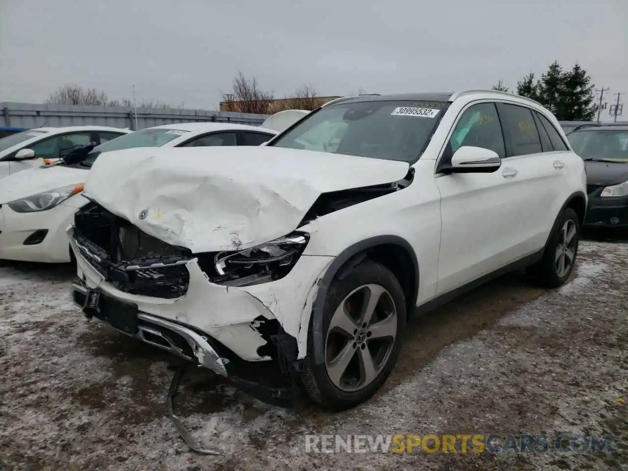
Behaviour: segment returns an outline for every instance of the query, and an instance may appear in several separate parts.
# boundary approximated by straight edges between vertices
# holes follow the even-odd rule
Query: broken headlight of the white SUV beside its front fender
[[[237,252],[218,252],[215,283],[249,286],[283,278],[290,272],[309,241],[308,234],[294,232],[274,241]]]

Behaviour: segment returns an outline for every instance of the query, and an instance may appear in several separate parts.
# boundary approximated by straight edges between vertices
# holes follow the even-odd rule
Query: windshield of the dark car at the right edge
[[[567,139],[583,159],[628,161],[628,130],[574,131]]]

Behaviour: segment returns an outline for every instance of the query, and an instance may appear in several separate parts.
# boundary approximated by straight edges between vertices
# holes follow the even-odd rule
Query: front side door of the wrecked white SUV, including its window
[[[438,166],[447,165],[462,146],[506,157],[504,136],[493,102],[471,104],[460,115]],[[437,169],[438,169],[437,166]],[[521,207],[512,169],[492,173],[436,174],[441,193],[441,248],[437,295],[455,290],[516,259],[512,252]]]

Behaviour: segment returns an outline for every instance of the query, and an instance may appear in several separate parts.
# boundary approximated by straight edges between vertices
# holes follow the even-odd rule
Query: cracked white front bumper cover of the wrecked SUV
[[[112,300],[111,303],[135,306],[139,325],[142,316],[149,316],[144,319],[157,318],[196,332],[208,339],[210,347],[217,346],[220,356],[229,360],[233,357],[245,361],[273,359],[276,352],[273,338],[276,340],[278,334],[290,337],[290,342],[294,342],[295,359],[305,357],[317,281],[333,257],[301,256],[284,278],[252,286],[210,283],[198,260],[192,258],[184,265],[189,274],[185,293],[176,298],[159,298],[134,295],[116,288],[90,263],[85,249],[82,251],[78,247],[72,237],[72,227],[68,234],[77,259],[77,275],[82,281],[75,291],[80,291],[82,296],[85,296],[85,290],[97,290],[105,300]],[[156,340],[146,329],[143,332],[130,333],[143,335],[143,340]],[[200,345],[200,342],[196,344]],[[226,354],[222,354],[221,348]]]

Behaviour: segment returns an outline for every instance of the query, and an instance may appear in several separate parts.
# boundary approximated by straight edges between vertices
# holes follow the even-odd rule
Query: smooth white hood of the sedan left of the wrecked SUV
[[[83,183],[89,170],[66,166],[30,168],[5,176],[0,182],[0,204],[55,188]]]

